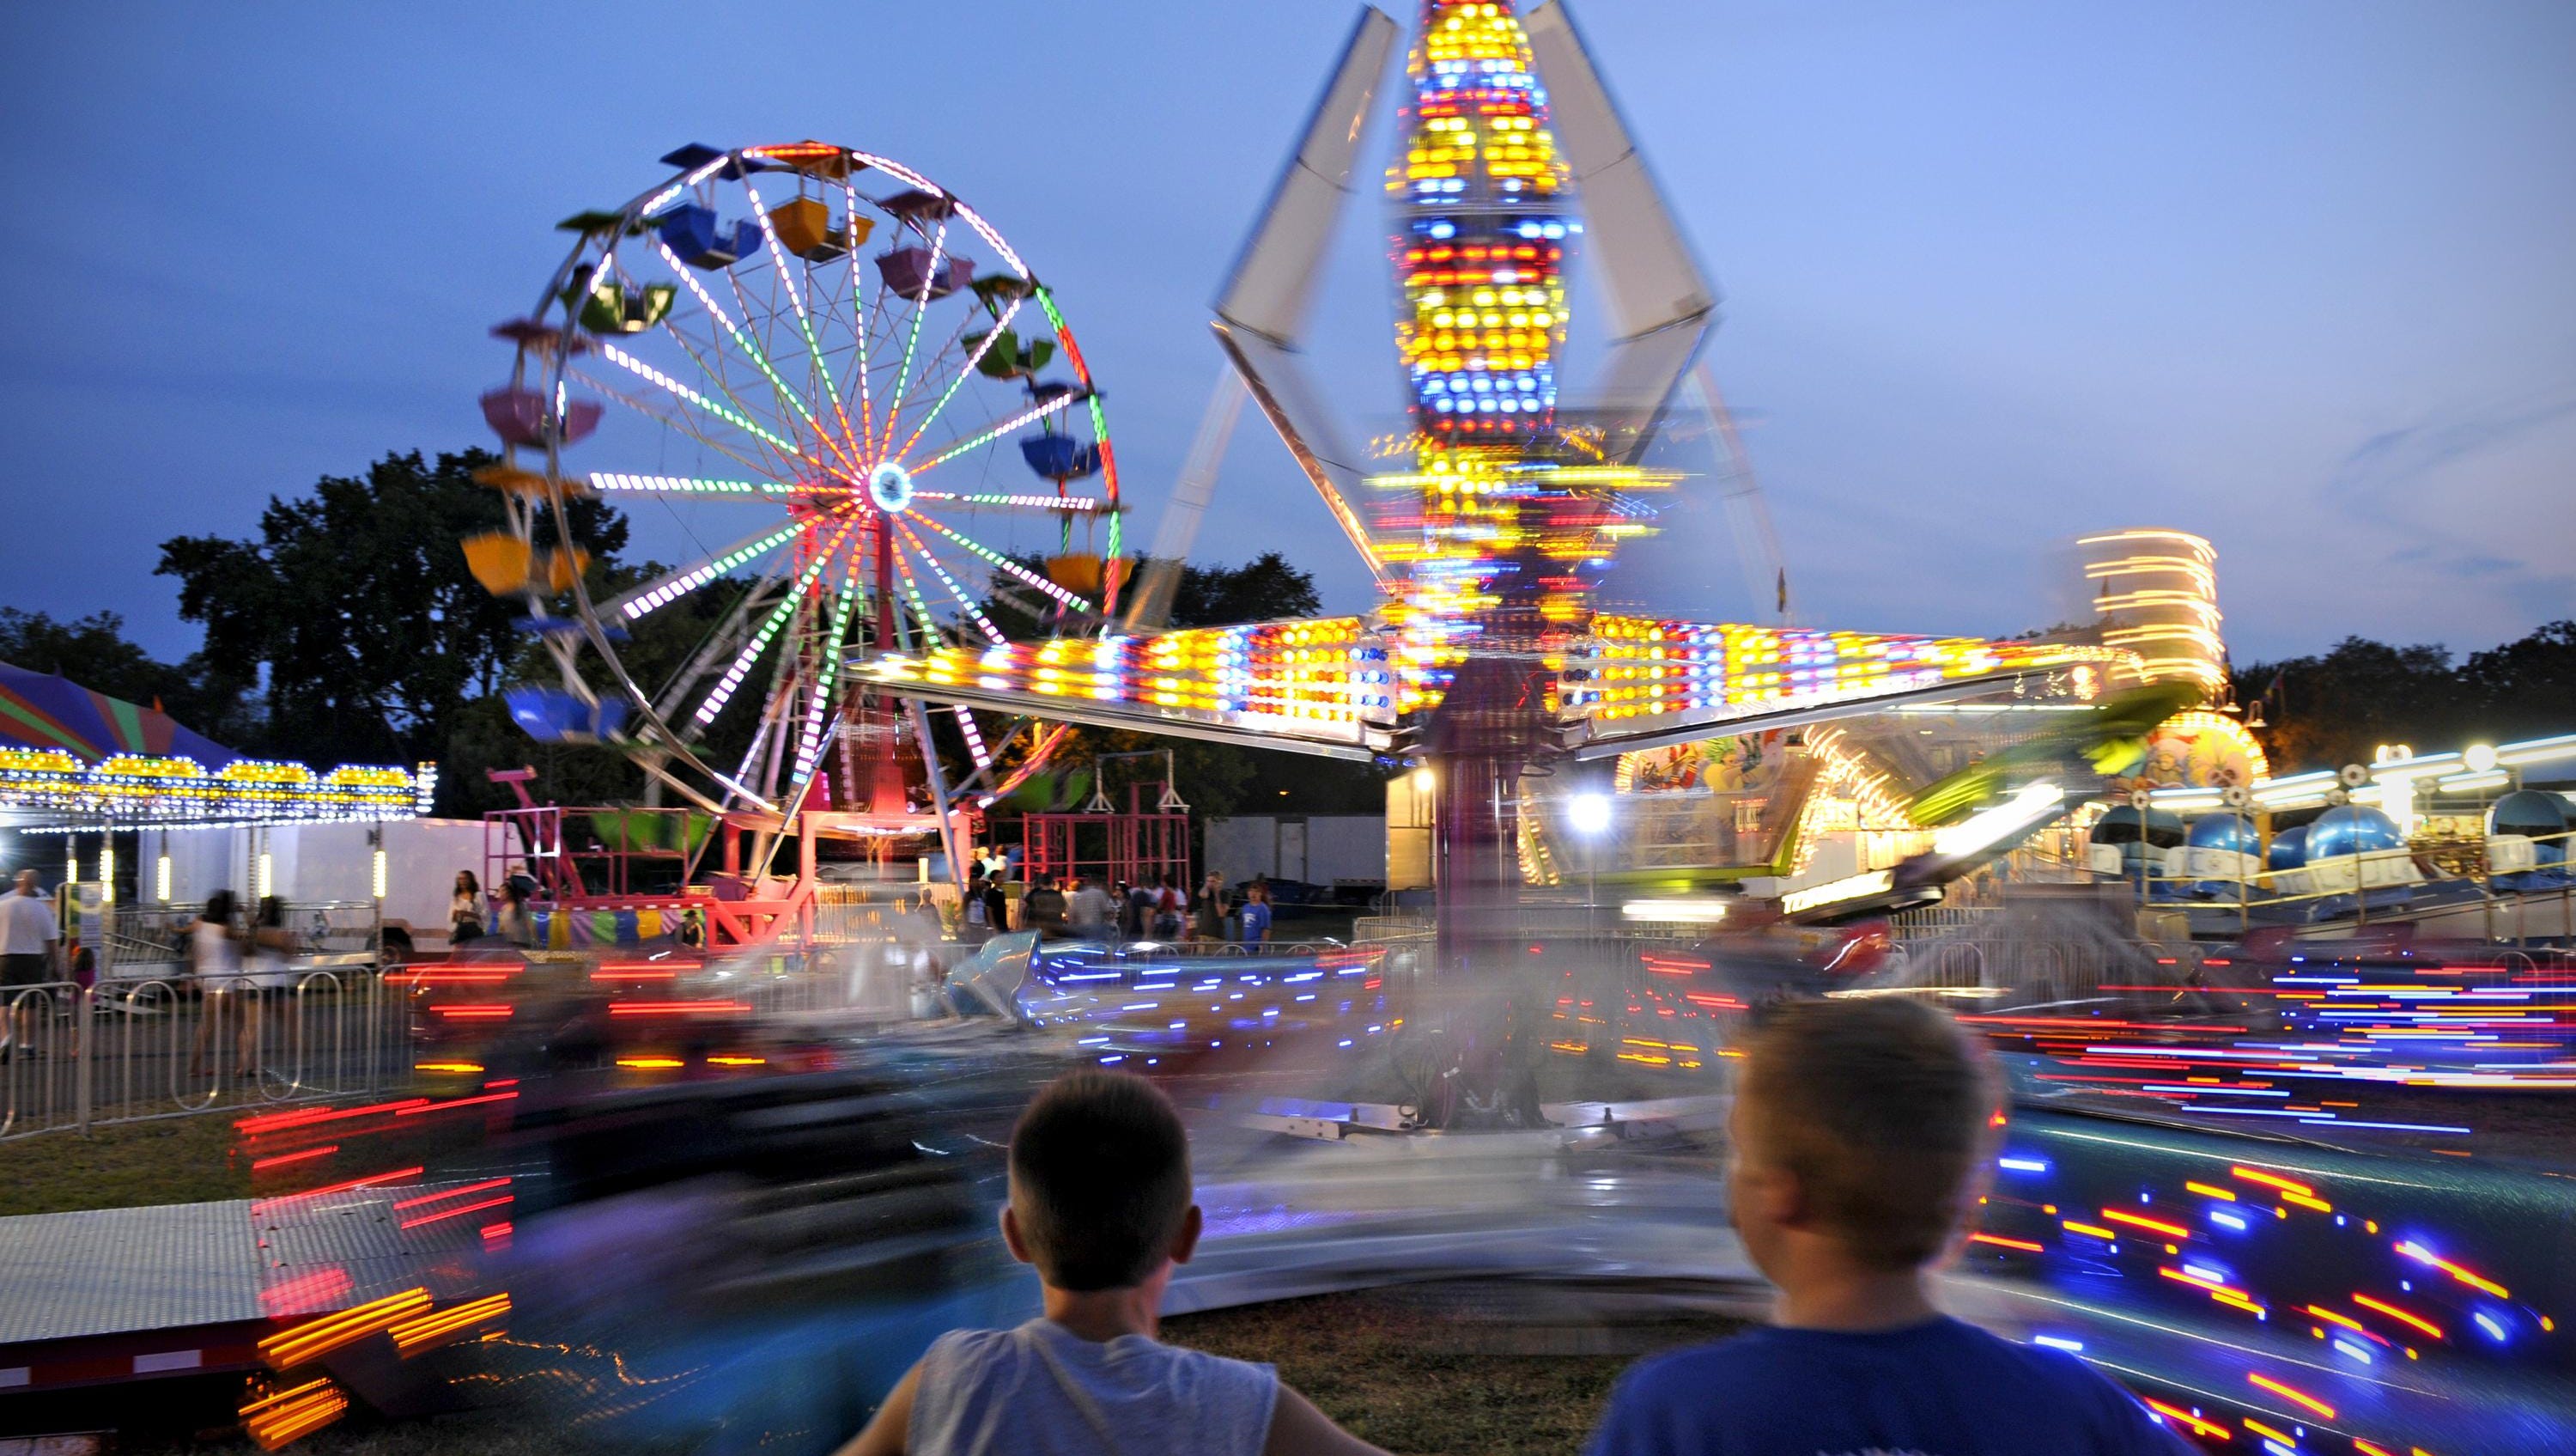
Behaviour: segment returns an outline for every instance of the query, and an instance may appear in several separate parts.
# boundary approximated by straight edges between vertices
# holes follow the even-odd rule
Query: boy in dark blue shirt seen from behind
[[[2190,1456],[2063,1350],[1937,1312],[1996,1098],[1947,1015],[1793,1002],[1744,1046],[1728,1183],[1775,1325],[1633,1366],[1592,1456]]]

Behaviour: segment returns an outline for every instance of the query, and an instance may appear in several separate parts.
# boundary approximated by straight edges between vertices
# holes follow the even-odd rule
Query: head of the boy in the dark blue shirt
[[[1790,1002],[1744,1046],[1731,1201],[1785,1283],[1803,1252],[1911,1270],[1950,1245],[1989,1147],[1994,1085],[1940,1010],[1904,997]]]

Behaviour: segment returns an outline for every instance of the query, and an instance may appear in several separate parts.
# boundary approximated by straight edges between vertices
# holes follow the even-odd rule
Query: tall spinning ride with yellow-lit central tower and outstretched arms
[[[860,670],[902,696],[1257,747],[1437,765],[1443,923],[1510,894],[1525,773],[1963,696],[2092,698],[2138,655],[1700,624],[1597,608],[1654,528],[1664,410],[1713,322],[1682,242],[1561,5],[1425,0],[1388,170],[1412,433],[1365,469],[1309,379],[1321,255],[1355,196],[1396,23],[1363,10],[1216,302],[1249,394],[1368,562],[1370,616],[1090,642],[940,644]],[[1540,88],[1540,72],[1546,88]],[[1579,201],[1577,201],[1579,198]],[[1613,343],[1564,392],[1566,265],[1600,263]]]

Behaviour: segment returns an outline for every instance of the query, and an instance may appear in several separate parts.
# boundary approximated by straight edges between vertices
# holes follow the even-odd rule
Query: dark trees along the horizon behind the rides
[[[502,706],[505,685],[551,685],[554,665],[518,626],[526,606],[484,593],[459,551],[464,536],[500,523],[497,495],[474,482],[492,461],[479,448],[389,454],[366,474],[270,497],[250,536],[162,541],[157,575],[178,582],[180,618],[204,626],[204,647],[178,662],[137,647],[113,611],[59,621],[18,608],[0,608],[0,660],[160,704],[252,755],[319,765],[435,760],[440,814],[502,807],[507,796],[484,771],[520,763],[567,804],[634,799],[644,783],[623,755],[536,742]],[[574,503],[572,526],[590,551],[592,593],[613,595],[667,570],[626,559],[629,521],[600,500]],[[696,652],[726,606],[724,593],[680,598],[634,624],[621,660],[652,688]],[[1314,577],[1265,551],[1236,567],[1182,567],[1170,626],[1319,608]],[[1015,634],[1036,626],[999,600],[987,611]],[[2576,621],[2463,660],[2442,644],[2347,637],[2318,655],[2236,667],[2233,691],[2262,722],[2254,732],[2280,773],[2367,763],[2383,742],[2432,752],[2576,732]],[[755,729],[757,693],[744,693],[708,724],[708,750],[739,755]],[[943,747],[963,771],[963,745]],[[1383,807],[1383,773],[1370,765],[1103,729],[1072,734],[1023,807],[1048,807],[1051,796],[1072,807],[1090,791],[1084,765],[1095,752],[1139,747],[1175,752],[1177,789],[1203,814]],[[1159,765],[1115,768],[1110,796],[1149,776]]]

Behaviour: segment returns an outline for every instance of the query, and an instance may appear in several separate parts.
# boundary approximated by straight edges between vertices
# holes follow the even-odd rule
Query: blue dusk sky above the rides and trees
[[[1801,621],[2040,626],[2102,526],[2213,536],[2239,660],[2576,616],[2576,5],[1577,13],[1726,296],[1708,361]],[[1218,369],[1208,299],[1350,15],[10,5],[0,606],[196,647],[157,544],[487,443],[484,330],[536,302],[551,224],[693,139],[876,149],[992,216],[1082,335],[1151,541]],[[1373,423],[1399,397],[1363,211],[1319,353]],[[1613,595],[1759,611],[1723,528],[1685,487]],[[1368,606],[1247,415],[1193,554],[1262,549]]]

